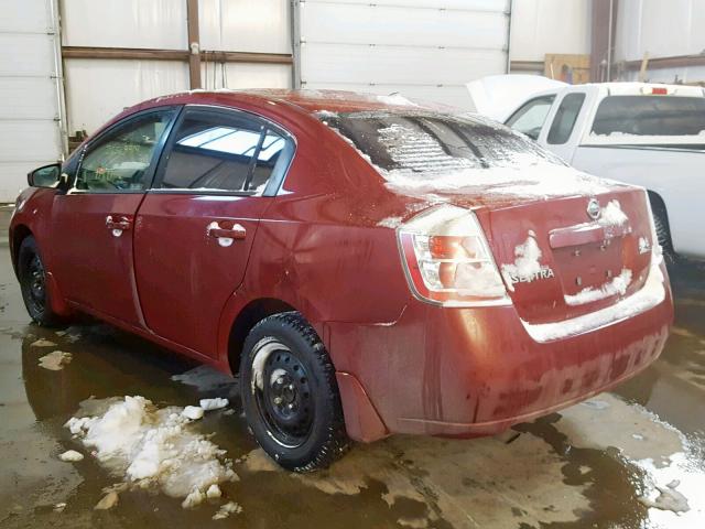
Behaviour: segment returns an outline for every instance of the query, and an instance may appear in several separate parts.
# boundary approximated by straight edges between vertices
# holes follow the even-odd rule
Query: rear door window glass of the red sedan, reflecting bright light
[[[262,192],[288,151],[288,140],[263,121],[207,110],[189,111],[171,145],[165,190]]]

